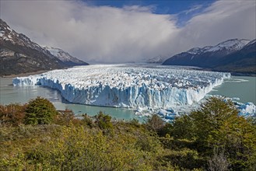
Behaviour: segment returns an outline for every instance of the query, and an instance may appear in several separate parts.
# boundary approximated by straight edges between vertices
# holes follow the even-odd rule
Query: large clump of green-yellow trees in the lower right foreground
[[[200,109],[175,120],[171,134],[175,139],[194,141],[188,148],[197,150],[205,162],[219,155],[214,152],[216,148],[223,149],[221,155],[230,161],[229,169],[247,170],[252,165],[250,159],[254,161],[254,125],[238,116],[233,103],[221,98],[211,97]]]

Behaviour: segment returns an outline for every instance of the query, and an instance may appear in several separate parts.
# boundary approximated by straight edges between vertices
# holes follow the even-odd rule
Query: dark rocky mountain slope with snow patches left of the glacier
[[[41,47],[0,19],[0,76],[48,71],[88,63],[54,47]]]

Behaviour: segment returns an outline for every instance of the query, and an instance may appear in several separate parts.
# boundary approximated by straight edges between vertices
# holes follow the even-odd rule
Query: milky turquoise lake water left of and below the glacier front
[[[49,99],[54,104],[57,110],[71,109],[75,114],[87,113],[89,116],[94,116],[100,111],[110,114],[118,120],[132,120],[133,118],[143,121],[146,117],[136,116],[135,110],[102,107],[102,106],[88,106],[81,104],[68,103],[61,97],[61,93],[55,89],[49,89],[41,86],[12,86],[11,78],[0,78],[0,103],[27,103],[30,99],[37,96]]]

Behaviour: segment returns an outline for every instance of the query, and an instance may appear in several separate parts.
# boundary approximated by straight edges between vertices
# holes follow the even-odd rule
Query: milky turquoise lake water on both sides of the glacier
[[[232,76],[231,79],[226,79],[221,86],[217,86],[210,92],[210,95],[222,95],[230,98],[237,97],[238,102],[252,102],[256,104],[256,77]],[[132,120],[132,118],[140,121],[146,118],[136,116],[135,110],[102,107],[102,106],[87,106],[80,104],[68,103],[61,97],[61,93],[54,89],[49,89],[41,86],[12,86],[11,78],[0,78],[0,103],[27,103],[30,99],[37,96],[47,98],[54,104],[58,110],[71,109],[75,114],[87,113],[90,116],[96,115],[99,111],[110,114],[119,120]]]

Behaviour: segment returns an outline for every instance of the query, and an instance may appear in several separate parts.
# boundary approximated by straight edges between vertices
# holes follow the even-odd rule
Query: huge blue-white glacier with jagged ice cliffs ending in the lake
[[[198,102],[229,77],[168,66],[89,65],[18,77],[12,83],[58,89],[71,103],[168,109]]]

